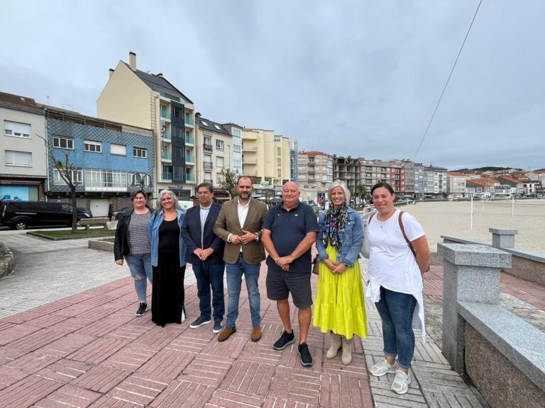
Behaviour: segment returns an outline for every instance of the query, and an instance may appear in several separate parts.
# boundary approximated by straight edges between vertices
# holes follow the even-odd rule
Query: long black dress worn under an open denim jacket
[[[182,323],[185,266],[180,266],[180,227],[178,220],[159,226],[158,265],[153,266],[151,321],[165,327]]]

